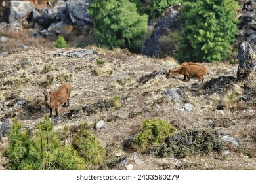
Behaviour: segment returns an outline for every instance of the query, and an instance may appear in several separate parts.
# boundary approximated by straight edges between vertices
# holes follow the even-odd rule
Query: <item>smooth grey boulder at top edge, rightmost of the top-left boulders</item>
[[[90,0],[70,0],[67,3],[68,14],[77,27],[92,23],[92,17],[87,12]]]

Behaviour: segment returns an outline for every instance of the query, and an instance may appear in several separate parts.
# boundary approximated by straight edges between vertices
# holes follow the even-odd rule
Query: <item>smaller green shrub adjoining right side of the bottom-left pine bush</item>
[[[79,152],[79,155],[85,159],[87,165],[103,163],[105,150],[100,141],[91,135],[87,124],[82,124],[79,127],[72,145]]]

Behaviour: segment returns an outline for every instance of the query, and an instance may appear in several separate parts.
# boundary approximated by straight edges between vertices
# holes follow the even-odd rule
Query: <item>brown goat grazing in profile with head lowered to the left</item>
[[[179,67],[169,70],[167,78],[182,74],[184,75],[183,80],[186,80],[186,78],[190,80],[190,76],[196,76],[199,79],[198,82],[203,82],[204,75],[207,73],[207,70],[208,69],[200,63],[182,63]]]

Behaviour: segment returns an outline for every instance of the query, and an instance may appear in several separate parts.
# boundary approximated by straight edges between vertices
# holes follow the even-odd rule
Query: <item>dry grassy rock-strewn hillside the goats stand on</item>
[[[73,53],[70,55],[70,53]],[[81,56],[81,53],[86,53]],[[55,130],[87,122],[106,149],[95,169],[256,169],[256,80],[236,81],[237,65],[203,63],[204,82],[166,78],[173,58],[147,58],[126,50],[28,48],[0,55],[0,153],[7,147],[11,118],[33,132],[49,109],[42,90],[72,84],[70,107],[52,117]],[[173,91],[179,91],[174,92]],[[174,97],[173,97],[174,96]],[[110,101],[119,98],[114,105]],[[53,112],[54,114],[54,112]],[[144,120],[164,119],[178,131],[217,131],[221,152],[156,156],[132,147]],[[103,127],[96,124],[104,120]],[[5,127],[4,127],[5,126]],[[72,134],[70,135],[72,137]],[[0,156],[0,169],[7,159]]]

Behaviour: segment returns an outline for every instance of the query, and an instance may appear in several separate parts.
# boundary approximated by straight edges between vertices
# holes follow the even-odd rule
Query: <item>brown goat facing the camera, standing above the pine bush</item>
[[[48,92],[43,90],[43,95],[45,95],[45,105],[50,109],[50,117],[53,116],[53,108],[55,108],[56,116],[58,116],[58,106],[64,103],[64,106],[70,106],[70,93],[72,90],[71,84],[62,84],[58,90],[53,90],[53,92]],[[66,105],[68,103],[68,105]]]

